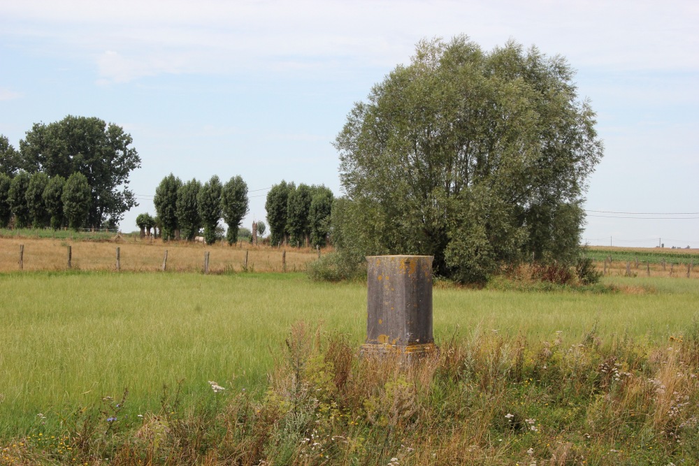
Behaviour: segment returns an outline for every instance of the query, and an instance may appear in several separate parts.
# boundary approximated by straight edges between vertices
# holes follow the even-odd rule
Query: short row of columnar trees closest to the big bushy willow
[[[272,245],[324,247],[331,233],[335,197],[324,185],[282,180],[267,193],[265,210]]]

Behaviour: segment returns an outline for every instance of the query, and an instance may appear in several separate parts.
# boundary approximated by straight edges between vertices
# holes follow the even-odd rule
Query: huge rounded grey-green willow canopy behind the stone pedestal
[[[532,254],[572,259],[603,156],[574,74],[514,41],[421,41],[336,138],[340,252],[433,255],[436,272],[468,282]]]

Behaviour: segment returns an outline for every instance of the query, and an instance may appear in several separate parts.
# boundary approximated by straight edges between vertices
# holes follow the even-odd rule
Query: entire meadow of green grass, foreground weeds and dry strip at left
[[[18,240],[31,245],[31,238]],[[14,241],[4,238],[0,250],[15,249]],[[36,247],[63,249],[63,240],[41,241]],[[110,252],[115,245],[76,242],[73,251],[92,246]],[[149,251],[157,259],[163,245],[122,247],[145,263]],[[257,265],[244,272],[226,268],[225,260],[210,275],[192,273],[200,270],[204,247],[167,247],[183,255],[191,249],[192,265],[157,273],[146,273],[157,265],[137,265],[116,273],[78,259],[74,270],[0,274],[0,446],[7,445],[0,464],[74,464],[77,458],[88,464],[395,466],[399,458],[415,465],[529,465],[546,458],[547,464],[584,465],[699,458],[684,443],[687,425],[696,430],[696,409],[684,398],[658,400],[661,388],[649,382],[662,380],[692,406],[699,401],[695,385],[668,378],[668,370],[699,372],[699,350],[688,346],[696,340],[699,348],[695,275],[615,272],[603,278],[606,291],[438,282],[434,335],[442,351],[412,370],[400,361],[378,367],[359,358],[366,284],[311,282],[301,272],[257,272]],[[245,251],[210,250],[212,259]],[[297,253],[298,269],[315,256]],[[231,257],[229,263],[240,261]],[[672,349],[668,359],[668,348],[682,353],[672,356]],[[344,378],[338,375],[343,365],[351,366]],[[620,371],[633,384],[605,378]],[[225,390],[212,391],[211,382]],[[667,414],[672,409],[681,415]],[[329,429],[322,442],[319,425]],[[424,430],[429,425],[439,428],[435,435]],[[312,435],[319,441],[304,443]],[[336,435],[355,443],[333,443]],[[43,436],[64,440],[49,446]],[[143,449],[124,450],[138,442]]]

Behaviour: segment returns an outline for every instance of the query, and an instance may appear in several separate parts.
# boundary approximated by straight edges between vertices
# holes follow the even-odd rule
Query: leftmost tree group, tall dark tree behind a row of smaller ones
[[[96,117],[36,123],[19,149],[0,135],[0,224],[116,228],[138,205],[128,189],[140,167],[131,135]]]

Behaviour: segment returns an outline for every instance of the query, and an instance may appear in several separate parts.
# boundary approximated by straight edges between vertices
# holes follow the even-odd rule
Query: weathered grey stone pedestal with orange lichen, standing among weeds
[[[429,354],[432,256],[368,256],[365,354]]]

